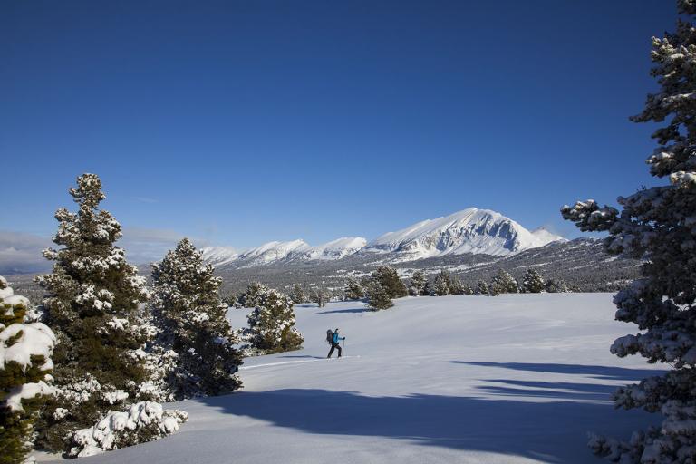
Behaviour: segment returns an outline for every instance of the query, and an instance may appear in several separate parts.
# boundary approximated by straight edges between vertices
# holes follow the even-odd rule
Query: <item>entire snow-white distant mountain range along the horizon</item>
[[[217,267],[247,268],[304,261],[334,261],[348,256],[379,256],[404,262],[451,255],[510,256],[530,248],[565,241],[540,228],[529,231],[514,220],[489,209],[467,208],[444,218],[427,219],[371,242],[343,237],[312,247],[304,240],[269,242],[237,253],[229,247],[203,248],[208,263]]]

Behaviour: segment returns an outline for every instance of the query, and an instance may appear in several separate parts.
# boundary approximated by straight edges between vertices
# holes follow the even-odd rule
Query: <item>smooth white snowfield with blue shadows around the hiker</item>
[[[593,430],[628,438],[658,417],[614,411],[614,386],[649,375],[609,353],[634,326],[612,295],[403,298],[295,306],[304,350],[247,359],[243,391],[172,404],[189,422],[164,440],[89,463],[585,463]],[[236,327],[246,310],[232,310]],[[347,337],[324,359],[327,328]]]

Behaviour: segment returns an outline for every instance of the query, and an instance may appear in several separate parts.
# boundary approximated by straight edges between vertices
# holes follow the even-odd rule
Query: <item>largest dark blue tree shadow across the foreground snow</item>
[[[368,397],[353,391],[244,391],[199,401],[312,434],[384,437],[554,463],[592,460],[586,448],[589,430],[628,438],[632,430],[656,419],[643,411],[616,412],[610,404],[593,402],[425,394]]]

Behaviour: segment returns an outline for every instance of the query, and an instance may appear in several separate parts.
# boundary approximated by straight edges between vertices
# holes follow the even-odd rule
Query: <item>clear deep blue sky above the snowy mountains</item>
[[[651,185],[650,37],[674,2],[0,4],[0,229],[53,234],[82,172],[143,237],[373,238],[476,206]]]

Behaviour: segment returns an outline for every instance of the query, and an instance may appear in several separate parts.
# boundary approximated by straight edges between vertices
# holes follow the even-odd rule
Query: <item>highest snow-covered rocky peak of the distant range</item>
[[[565,238],[543,228],[530,232],[489,209],[467,208],[384,234],[367,244],[362,252],[398,253],[403,260],[465,253],[506,256],[557,240]]]

